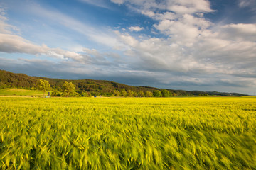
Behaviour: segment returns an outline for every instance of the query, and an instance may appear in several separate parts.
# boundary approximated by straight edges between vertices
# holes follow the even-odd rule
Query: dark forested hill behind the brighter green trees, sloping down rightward
[[[105,94],[105,96],[111,96],[115,92],[119,91],[134,91],[138,93],[143,91],[146,94],[146,91],[154,92],[156,90],[162,91],[163,89],[157,89],[154,87],[148,86],[128,86],[125,84],[119,84],[113,81],[105,80],[92,80],[92,79],[82,79],[82,80],[64,80],[64,79],[50,79],[46,77],[30,77],[26,74],[16,74],[12,72],[7,72],[0,70],[0,88],[21,88],[21,89],[34,89],[36,83],[39,79],[45,79],[49,81],[50,86],[53,89],[61,91],[64,81],[72,82],[75,85],[76,91],[81,94],[82,92],[87,92],[92,95],[94,94]],[[205,91],[183,91],[183,90],[171,90],[167,89],[170,93],[170,96],[244,96],[243,94],[237,93],[220,93],[216,91],[205,92]]]

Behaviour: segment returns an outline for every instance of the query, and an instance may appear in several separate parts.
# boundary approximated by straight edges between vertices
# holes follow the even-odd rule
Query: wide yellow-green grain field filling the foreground
[[[0,98],[0,169],[256,169],[256,98]]]

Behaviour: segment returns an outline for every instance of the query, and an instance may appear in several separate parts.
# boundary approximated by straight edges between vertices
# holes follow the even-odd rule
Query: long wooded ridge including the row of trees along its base
[[[40,79],[48,81],[52,89],[51,96],[126,96],[126,97],[169,97],[169,96],[245,96],[238,93],[221,93],[217,91],[183,91],[172,89],[158,89],[149,86],[129,86],[106,80],[65,80],[46,77],[30,77],[26,74],[16,74],[0,69],[0,89],[20,88],[36,89]],[[75,91],[65,93],[64,84],[73,84]],[[65,88],[64,88],[65,89]]]

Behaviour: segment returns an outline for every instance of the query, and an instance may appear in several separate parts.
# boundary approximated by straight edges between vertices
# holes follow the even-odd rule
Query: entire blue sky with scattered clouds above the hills
[[[0,69],[256,94],[256,0],[1,0]]]

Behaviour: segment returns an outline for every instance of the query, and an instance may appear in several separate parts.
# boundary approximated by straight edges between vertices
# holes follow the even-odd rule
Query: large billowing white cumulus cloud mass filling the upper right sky
[[[130,47],[125,54],[139,58],[142,66],[146,66],[146,62],[150,68],[176,72],[205,70],[224,73],[237,67],[237,62],[245,58],[248,63],[242,62],[244,67],[255,64],[255,24],[238,23],[212,28],[213,23],[202,18],[203,13],[213,12],[209,1],[157,3],[142,0],[125,3],[159,21],[154,27],[169,37],[139,40],[119,34],[120,40]],[[178,6],[182,8],[174,10]],[[159,13],[158,9],[166,11]]]

